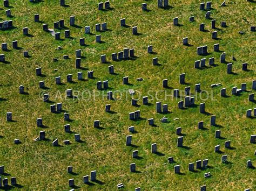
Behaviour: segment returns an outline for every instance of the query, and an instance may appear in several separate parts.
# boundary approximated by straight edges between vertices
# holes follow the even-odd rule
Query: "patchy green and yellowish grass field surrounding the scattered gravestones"
[[[218,40],[211,38],[211,19],[205,19],[206,11],[199,10],[199,1],[170,1],[169,9],[157,8],[157,1],[111,1],[111,10],[98,11],[100,1],[69,1],[69,6],[59,6],[59,1],[44,0],[30,3],[28,0],[9,0],[13,17],[7,18],[3,3],[0,10],[1,20],[14,22],[14,29],[0,31],[1,43],[8,43],[5,54],[6,63],[0,63],[0,165],[4,165],[2,178],[17,177],[17,187],[10,189],[70,189],[68,180],[75,179],[80,189],[116,189],[123,183],[125,189],[180,189],[197,190],[207,185],[207,189],[243,190],[256,189],[255,169],[247,168],[246,161],[252,160],[256,166],[255,144],[250,144],[250,136],[255,134],[256,118],[246,118],[246,110],[256,107],[248,101],[252,91],[252,80],[256,79],[256,35],[250,32],[255,25],[255,1],[227,1],[221,7],[222,0],[213,1],[211,17],[216,19]],[[141,4],[147,2],[150,11],[142,11]],[[33,22],[33,16],[39,13],[40,23]],[[76,16],[76,26],[69,26],[69,17]],[[190,16],[195,22],[189,22]],[[180,26],[173,26],[173,18],[179,17]],[[120,19],[126,18],[130,27],[120,27]],[[65,20],[66,29],[70,29],[71,38],[64,38],[64,29],[60,32],[62,40],[55,40],[50,33],[43,31],[48,23]],[[227,27],[220,27],[226,21]],[[95,32],[95,24],[107,22],[108,31]],[[199,31],[199,24],[205,23],[206,32]],[[85,34],[84,27],[91,26],[93,34]],[[132,35],[132,27],[137,26],[140,35]],[[23,36],[22,28],[29,27],[30,36]],[[244,35],[239,31],[245,31]],[[95,43],[95,34],[101,34],[104,43]],[[79,38],[85,38],[86,46],[79,45]],[[191,46],[183,46],[182,39],[188,37]],[[12,41],[18,40],[19,49],[12,48]],[[220,44],[220,52],[213,52],[213,45]],[[147,53],[152,45],[154,54]],[[198,46],[208,46],[208,55],[197,55]],[[62,46],[62,50],[55,50]],[[134,48],[136,58],[112,61],[111,53],[123,48]],[[82,49],[82,69],[75,68],[75,51]],[[30,58],[23,57],[23,51],[29,51]],[[233,63],[234,74],[226,73],[226,63],[220,63],[220,54],[226,52],[227,63]],[[63,60],[68,54],[70,59]],[[108,63],[100,62],[100,55],[106,54]],[[232,60],[232,55],[237,61]],[[159,66],[152,65],[152,58],[158,57]],[[194,61],[201,58],[215,58],[215,66],[194,69]],[[53,62],[58,58],[58,62]],[[242,63],[248,62],[248,71],[242,71]],[[116,75],[109,74],[108,66],[114,65]],[[42,76],[36,76],[35,68],[42,67]],[[57,69],[57,70],[55,70]],[[87,70],[95,71],[95,79],[87,79]],[[86,80],[78,81],[77,72],[83,72]],[[186,74],[186,84],[179,84],[179,74]],[[66,75],[73,74],[73,83],[66,82]],[[62,77],[62,85],[55,84],[55,77]],[[129,76],[129,85],[123,85],[124,76]],[[136,79],[143,77],[143,81]],[[162,80],[169,79],[170,88],[162,87]],[[43,89],[38,82],[45,81],[44,91],[50,94],[51,103],[39,98]],[[66,99],[65,90],[72,88],[82,93],[86,90],[93,94],[97,90],[96,82],[109,80],[109,89],[93,97],[78,95],[76,99]],[[194,107],[178,109],[178,101],[170,96],[173,89],[184,90],[201,83],[206,93],[196,100]],[[211,84],[221,83],[211,88]],[[232,87],[240,88],[247,83],[247,91],[239,96],[231,95]],[[23,84],[25,92],[19,94],[18,87]],[[220,89],[227,89],[227,97],[220,97]],[[156,113],[156,96],[149,105],[131,105],[131,96],[118,97],[116,101],[104,98],[106,91],[137,90],[141,96],[156,93],[162,103],[168,103],[168,114]],[[162,91],[164,90],[164,91]],[[159,92],[161,91],[161,92]],[[56,94],[58,94],[57,97]],[[165,95],[167,98],[165,98]],[[136,94],[139,97],[139,94]],[[89,97],[89,98],[88,98]],[[85,99],[87,98],[87,99]],[[149,97],[150,98],[150,97]],[[183,97],[184,98],[184,97]],[[63,110],[70,114],[71,121],[64,122],[63,115],[50,112],[53,102],[62,102]],[[199,104],[205,102],[206,114],[200,114]],[[113,112],[105,112],[105,104],[111,104]],[[141,119],[129,120],[129,112],[140,110]],[[12,112],[14,122],[6,122],[6,112]],[[217,116],[217,126],[210,126],[210,116]],[[169,123],[160,123],[160,118],[168,117]],[[36,119],[42,117],[44,128],[38,128]],[[154,118],[156,126],[150,126],[147,119]],[[174,121],[174,118],[179,120]],[[101,128],[93,128],[93,121],[100,120]],[[204,121],[205,130],[198,130],[197,123]],[[70,124],[72,133],[64,132],[64,124]],[[131,134],[128,127],[134,125],[137,133]],[[176,128],[181,126],[184,145],[177,147]],[[214,138],[215,131],[221,130],[221,139]],[[34,142],[39,131],[45,130],[45,141]],[[80,133],[82,143],[75,142],[74,134]],[[127,135],[132,135],[133,146],[125,146]],[[22,144],[15,145],[14,139]],[[58,138],[59,147],[52,146],[52,140]],[[64,145],[69,139],[71,144]],[[226,140],[231,140],[232,149],[224,148]],[[151,153],[151,144],[157,143],[161,154]],[[221,145],[222,154],[214,153],[214,146]],[[139,159],[132,158],[132,151],[138,150]],[[221,155],[228,155],[228,163],[221,163]],[[166,164],[173,157],[174,164]],[[198,172],[189,172],[188,163],[208,159],[208,168]],[[130,164],[135,162],[138,173],[130,173]],[[74,174],[68,174],[66,168],[73,166]],[[173,166],[180,165],[181,174],[174,174]],[[83,176],[97,171],[97,182],[91,185],[83,183]],[[211,178],[204,173],[211,172]]]

